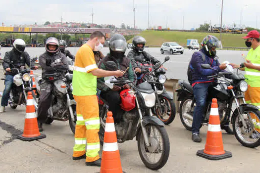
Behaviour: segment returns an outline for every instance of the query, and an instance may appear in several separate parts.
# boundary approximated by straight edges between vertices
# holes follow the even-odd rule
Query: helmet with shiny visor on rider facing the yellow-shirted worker
[[[110,54],[115,58],[122,58],[125,54],[127,43],[124,36],[115,34],[109,42]]]

